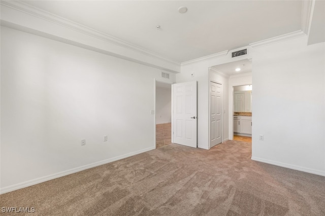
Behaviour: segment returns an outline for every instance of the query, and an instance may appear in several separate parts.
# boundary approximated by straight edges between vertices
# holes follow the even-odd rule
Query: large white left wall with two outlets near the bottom
[[[7,27],[1,45],[2,193],[154,149],[159,69]]]

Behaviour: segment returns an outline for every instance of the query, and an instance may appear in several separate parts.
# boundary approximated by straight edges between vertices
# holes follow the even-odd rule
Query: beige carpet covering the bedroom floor
[[[31,215],[325,215],[325,177],[250,157],[242,141],[209,151],[170,144],[3,194],[1,207],[35,207]]]

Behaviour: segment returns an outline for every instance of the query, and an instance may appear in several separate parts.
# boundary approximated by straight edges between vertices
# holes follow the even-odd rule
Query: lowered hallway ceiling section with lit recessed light
[[[252,72],[252,62],[248,59],[243,59],[225,64],[219,64],[211,68],[227,76],[247,74]],[[240,71],[236,71],[236,68],[240,68]]]

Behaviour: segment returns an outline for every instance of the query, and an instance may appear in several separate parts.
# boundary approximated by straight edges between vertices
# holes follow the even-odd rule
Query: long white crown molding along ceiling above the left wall
[[[66,18],[57,16],[55,14],[52,14],[50,12],[44,11],[42,9],[39,9],[37,7],[28,5],[27,3],[24,3],[22,1],[1,1],[0,4],[2,6],[7,6],[9,8],[12,8],[14,10],[35,16],[37,18],[46,20],[48,22],[52,22],[55,23],[57,25],[81,32],[83,34],[87,34],[93,38],[96,39],[100,39],[102,41],[129,49],[129,50],[133,50],[136,51],[138,53],[159,59],[159,60],[163,60],[163,61],[167,61],[169,63],[175,64],[175,65],[180,65],[180,62],[177,62],[175,60],[169,59],[165,56],[161,56],[157,53],[154,53],[150,50],[141,48],[139,46],[136,46],[134,44],[128,43],[126,41],[120,40],[118,38],[113,37],[112,35],[106,34],[104,32],[92,29],[90,27],[87,27],[85,25],[79,24],[77,22],[68,20]]]

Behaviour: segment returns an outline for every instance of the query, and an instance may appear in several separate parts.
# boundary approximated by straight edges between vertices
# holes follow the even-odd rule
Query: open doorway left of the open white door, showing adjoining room
[[[172,135],[172,84],[155,81],[156,148],[169,145]]]

